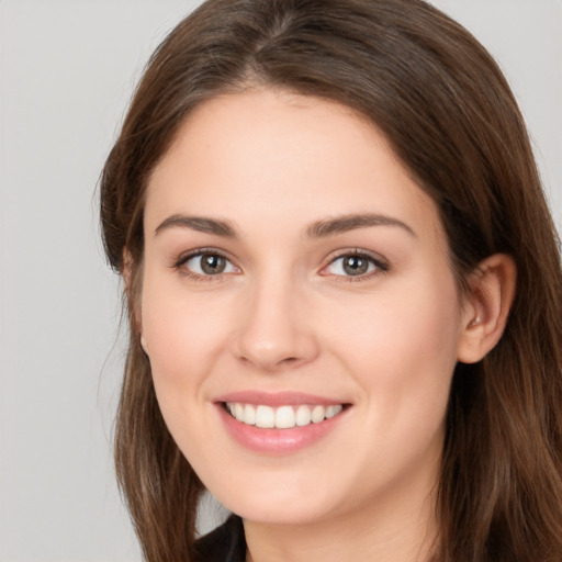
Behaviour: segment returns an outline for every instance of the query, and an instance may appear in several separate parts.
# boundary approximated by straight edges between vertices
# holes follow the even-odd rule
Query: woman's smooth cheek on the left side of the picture
[[[166,425],[183,454],[201,462],[212,456],[206,448],[216,439],[212,428],[201,431],[201,427],[209,414],[210,374],[217,370],[228,340],[232,305],[218,295],[188,294],[181,283],[148,272],[142,322]],[[193,465],[198,472],[207,471],[205,463]]]

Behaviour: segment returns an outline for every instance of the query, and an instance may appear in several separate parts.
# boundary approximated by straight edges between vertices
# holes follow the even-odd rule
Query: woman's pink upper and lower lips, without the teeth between
[[[269,456],[290,454],[312,447],[336,430],[341,422],[347,418],[351,409],[349,403],[300,392],[268,393],[241,391],[218,396],[213,402],[227,434],[238,445],[250,451]],[[252,405],[262,404],[271,407],[283,405],[299,406],[301,404],[345,404],[345,407],[337,416],[325,419],[318,424],[313,423],[307,426],[295,426],[288,429],[263,429],[238,422],[226,411],[226,402]]]

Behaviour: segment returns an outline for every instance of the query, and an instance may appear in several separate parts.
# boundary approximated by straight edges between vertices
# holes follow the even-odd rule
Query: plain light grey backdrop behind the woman
[[[198,3],[0,0],[1,562],[140,560],[111,461],[123,342],[95,187],[146,59]],[[435,3],[506,72],[560,227],[561,0]]]

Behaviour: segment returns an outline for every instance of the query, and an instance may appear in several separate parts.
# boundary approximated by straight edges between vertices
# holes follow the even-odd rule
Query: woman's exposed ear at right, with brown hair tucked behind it
[[[512,257],[494,254],[482,261],[469,278],[458,360],[480,361],[499,341],[512,307],[517,268]]]

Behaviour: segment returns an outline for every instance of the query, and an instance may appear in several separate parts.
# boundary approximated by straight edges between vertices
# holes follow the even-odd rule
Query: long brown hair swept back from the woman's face
[[[505,78],[463,27],[422,0],[210,0],[149,60],[101,178],[108,258],[121,273],[130,259],[115,460],[146,559],[195,560],[202,484],[164,424],[134,321],[145,190],[196,104],[259,86],[346,104],[384,133],[439,206],[461,289],[483,258],[514,258],[517,293],[503,338],[453,376],[439,559],[562,560],[555,227]]]

